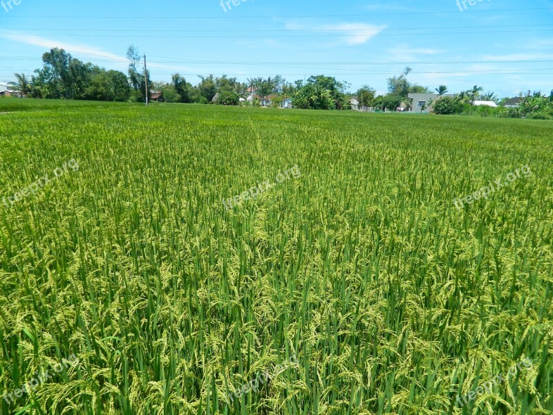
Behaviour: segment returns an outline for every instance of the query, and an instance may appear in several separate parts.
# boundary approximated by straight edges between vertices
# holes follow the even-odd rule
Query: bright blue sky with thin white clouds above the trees
[[[553,0],[15,1],[0,5],[0,82],[30,75],[55,46],[126,72],[133,44],[156,81],[324,74],[383,93],[410,66],[431,89],[553,89]]]

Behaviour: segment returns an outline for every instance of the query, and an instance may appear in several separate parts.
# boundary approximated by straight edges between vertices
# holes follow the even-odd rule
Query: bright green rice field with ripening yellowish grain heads
[[[552,136],[0,100],[0,413],[553,413]]]

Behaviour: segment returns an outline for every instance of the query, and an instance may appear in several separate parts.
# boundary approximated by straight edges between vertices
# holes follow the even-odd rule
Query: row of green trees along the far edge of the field
[[[288,82],[280,75],[274,77],[252,77],[247,82],[239,82],[236,77],[223,75],[198,75],[200,82],[193,85],[179,73],[171,76],[171,82],[153,82],[149,71],[142,69],[140,53],[135,46],[129,46],[127,53],[129,68],[127,73],[106,70],[100,66],[84,63],[67,53],[64,49],[53,48],[42,55],[42,68],[27,77],[16,73],[16,82],[10,82],[13,89],[21,95],[32,98],[97,100],[119,102],[144,102],[146,100],[146,82],[149,95],[160,92],[166,102],[251,105],[278,107],[284,100],[290,100],[292,106],[299,109],[351,109],[351,98],[355,97],[359,107],[395,111],[411,109],[413,103],[410,93],[433,93],[427,86],[409,82],[412,69],[407,67],[400,75],[388,78],[388,92],[376,95],[375,89],[363,85],[355,92],[350,91],[348,82],[335,77],[314,75],[307,80]],[[474,101],[494,101],[503,103],[495,93],[482,93],[481,86],[462,91],[454,98],[444,96],[447,86],[435,89],[436,102],[429,102],[436,113],[489,113],[489,109],[476,109]],[[553,92],[552,92],[553,97]],[[439,101],[439,102],[438,102]],[[497,110],[499,116],[526,117],[531,115],[553,117],[553,109],[547,98],[540,93],[528,93],[523,97],[520,110]],[[471,105],[472,104],[472,105]],[[538,115],[536,115],[536,113]]]

